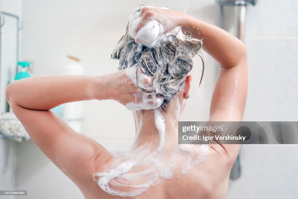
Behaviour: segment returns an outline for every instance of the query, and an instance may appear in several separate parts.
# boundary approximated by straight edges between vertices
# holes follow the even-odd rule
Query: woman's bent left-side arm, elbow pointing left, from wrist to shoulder
[[[134,97],[127,90],[136,89],[124,72],[106,76],[44,75],[11,83],[6,97],[35,144],[80,187],[82,181],[93,183],[92,175],[112,155],[93,139],[74,131],[50,109],[66,102],[112,99],[115,95],[125,103]]]

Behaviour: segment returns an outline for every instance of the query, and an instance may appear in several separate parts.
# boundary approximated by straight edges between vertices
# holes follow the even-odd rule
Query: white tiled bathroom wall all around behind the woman
[[[14,3],[14,7],[17,7],[14,12],[22,14],[24,28],[21,32],[21,58],[34,62],[35,75],[60,73],[68,54],[81,59],[84,74],[103,75],[116,71],[117,61],[109,59],[110,54],[124,33],[133,8],[144,4],[133,0],[7,2],[0,0],[0,10],[4,9],[4,5],[8,9],[7,4],[11,7]],[[219,7],[211,0],[149,0],[145,4],[181,10],[219,25]],[[230,7],[225,10],[225,28],[233,32],[233,9]],[[260,0],[255,7],[249,6],[247,9],[245,43],[248,51],[249,90],[244,120],[298,119],[298,106],[295,103],[298,101],[297,10],[296,0]],[[206,72],[200,88],[201,62],[199,57],[195,58],[190,99],[182,114],[182,121],[208,119],[218,64],[207,53],[204,53],[204,58]],[[124,150],[130,145],[134,137],[130,111],[114,101],[92,100],[84,102],[83,107],[84,134],[111,150]],[[193,111],[194,108],[197,111]],[[6,176],[16,176],[16,183],[11,180],[11,185],[5,184],[30,191],[31,195],[27,198],[39,198],[53,189],[56,190],[55,194],[44,195],[43,198],[57,198],[57,195],[61,195],[61,198],[83,197],[75,184],[32,141],[21,144],[0,141],[0,151],[6,151],[0,153],[0,160],[5,160],[0,161],[1,172]],[[297,146],[242,146],[242,175],[238,180],[230,181],[227,198],[297,198],[297,149]],[[14,157],[18,157],[16,167],[13,166]],[[11,169],[5,167],[7,164],[11,165],[8,167]],[[0,187],[1,183],[3,181],[0,180]]]

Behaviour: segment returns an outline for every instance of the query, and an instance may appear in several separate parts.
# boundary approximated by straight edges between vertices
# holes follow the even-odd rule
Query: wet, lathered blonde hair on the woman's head
[[[135,10],[136,11],[140,11]],[[164,97],[161,105],[162,110],[166,110],[168,102],[179,92],[188,73],[193,68],[193,56],[201,49],[201,40],[184,35],[181,30],[165,34],[156,41],[153,47],[139,46],[133,38],[129,36],[129,23],[126,33],[117,43],[111,58],[119,59],[119,70],[137,65],[142,72],[152,76],[150,87],[143,88],[138,81],[139,88],[144,92],[156,95],[156,90]],[[201,57],[201,56],[200,56]],[[202,59],[202,57],[201,57]],[[203,60],[203,59],[202,59]],[[138,71],[138,68],[137,68]],[[201,81],[204,74],[204,61]],[[200,84],[201,84],[200,81]]]

